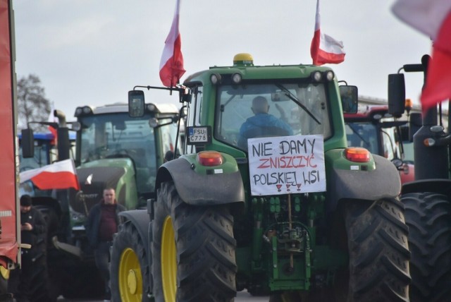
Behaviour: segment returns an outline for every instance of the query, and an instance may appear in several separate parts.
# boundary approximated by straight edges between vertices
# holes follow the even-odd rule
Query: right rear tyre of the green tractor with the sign
[[[347,301],[409,301],[410,252],[402,203],[395,198],[357,200],[344,210],[350,257]]]

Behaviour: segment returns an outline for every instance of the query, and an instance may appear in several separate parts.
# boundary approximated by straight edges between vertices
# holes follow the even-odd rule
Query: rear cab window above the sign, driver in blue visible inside
[[[223,85],[218,90],[216,139],[247,150],[247,139],[331,135],[323,84]]]

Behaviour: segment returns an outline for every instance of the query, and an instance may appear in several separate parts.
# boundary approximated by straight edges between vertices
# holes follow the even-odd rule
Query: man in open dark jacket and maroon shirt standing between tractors
[[[87,217],[86,231],[89,244],[94,248],[94,259],[105,282],[105,300],[111,300],[109,249],[113,246],[113,234],[121,223],[119,212],[125,211],[116,201],[113,188],[104,189],[104,198],[94,205]]]

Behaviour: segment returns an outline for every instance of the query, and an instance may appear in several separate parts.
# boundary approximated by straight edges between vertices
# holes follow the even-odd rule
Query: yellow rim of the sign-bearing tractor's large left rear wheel
[[[177,248],[171,217],[166,217],[161,234],[161,280],[164,301],[175,302],[177,291]]]

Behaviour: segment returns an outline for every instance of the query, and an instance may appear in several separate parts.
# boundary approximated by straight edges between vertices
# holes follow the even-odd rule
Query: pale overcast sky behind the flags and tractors
[[[387,98],[387,78],[420,63],[431,40],[390,11],[395,0],[321,0],[321,31],[345,45],[328,64],[359,95]],[[159,62],[175,0],[13,0],[16,73],[35,74],[46,97],[73,121],[75,108],[127,102],[135,85],[161,86]],[[180,34],[187,75],[230,66],[249,52],[255,65],[311,64],[316,0],[181,0]],[[406,97],[419,104],[423,77],[406,75]],[[173,102],[166,91],[147,102]]]

